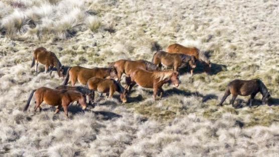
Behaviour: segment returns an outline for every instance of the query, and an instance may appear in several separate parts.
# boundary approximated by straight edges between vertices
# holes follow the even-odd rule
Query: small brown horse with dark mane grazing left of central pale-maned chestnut
[[[113,79],[102,79],[98,77],[92,77],[88,80],[86,87],[88,87],[90,90],[93,90],[92,98],[91,100],[94,100],[94,91],[98,91],[100,95],[102,93],[109,93],[110,98],[112,98],[112,95],[115,91],[120,93],[120,99],[122,102],[127,102],[127,92],[124,87],[121,86],[121,84]]]

